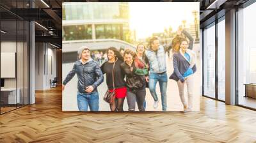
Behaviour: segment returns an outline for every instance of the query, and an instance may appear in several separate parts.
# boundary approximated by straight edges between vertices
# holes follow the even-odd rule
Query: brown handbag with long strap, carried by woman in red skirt
[[[117,61],[117,60],[116,60]],[[116,63],[115,61],[115,63]],[[108,91],[106,91],[106,93],[104,94],[103,100],[105,102],[108,102],[110,104],[112,104],[113,102],[115,102],[115,98],[116,98],[116,90],[115,90],[115,82],[114,82],[114,68],[115,68],[115,63],[113,64],[113,70],[112,70],[112,80],[113,80],[113,91],[110,92],[109,89]]]

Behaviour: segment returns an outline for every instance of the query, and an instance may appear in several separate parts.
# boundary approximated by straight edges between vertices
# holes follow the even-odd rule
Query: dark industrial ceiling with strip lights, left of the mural
[[[3,24],[9,23],[10,28],[13,27],[10,21],[17,18],[35,20],[36,42],[47,41],[61,48],[61,4],[61,0],[1,0],[1,20]]]

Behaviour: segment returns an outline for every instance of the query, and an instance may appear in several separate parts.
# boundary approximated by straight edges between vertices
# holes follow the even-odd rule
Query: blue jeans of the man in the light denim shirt
[[[150,73],[149,74],[148,87],[155,102],[158,101],[157,94],[156,94],[157,82],[159,82],[159,86],[160,86],[162,110],[166,110],[167,74],[166,73]]]

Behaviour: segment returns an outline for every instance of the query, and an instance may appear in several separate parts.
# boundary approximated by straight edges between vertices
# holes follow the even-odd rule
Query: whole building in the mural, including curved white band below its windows
[[[83,45],[92,50],[134,47],[128,3],[63,3],[62,10],[63,53]]]

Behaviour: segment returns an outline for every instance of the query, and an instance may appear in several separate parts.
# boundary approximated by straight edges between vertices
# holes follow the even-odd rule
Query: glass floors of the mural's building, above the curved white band
[[[63,41],[131,42],[128,3],[63,3]]]

